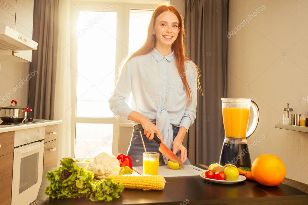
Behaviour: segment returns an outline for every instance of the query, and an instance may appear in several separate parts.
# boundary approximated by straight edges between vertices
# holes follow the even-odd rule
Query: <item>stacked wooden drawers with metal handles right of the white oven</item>
[[[58,130],[59,124],[45,127],[45,148],[43,173],[47,167],[57,167],[58,164]],[[44,175],[43,175],[44,177]]]

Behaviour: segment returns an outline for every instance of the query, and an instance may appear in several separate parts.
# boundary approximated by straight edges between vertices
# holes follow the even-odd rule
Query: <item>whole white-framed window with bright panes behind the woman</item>
[[[100,152],[119,152],[119,129],[125,119],[115,119],[108,100],[119,77],[118,66],[139,49],[147,37],[155,5],[74,3],[76,41],[71,59],[72,155],[93,158]],[[73,21],[74,22],[74,21]],[[125,123],[124,123],[125,124]],[[125,125],[132,126],[132,124]]]

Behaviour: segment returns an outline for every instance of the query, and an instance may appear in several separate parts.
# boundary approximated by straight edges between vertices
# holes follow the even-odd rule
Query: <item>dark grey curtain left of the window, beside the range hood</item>
[[[32,51],[29,87],[29,116],[35,119],[53,119],[55,99],[56,55],[58,49],[59,1],[34,0],[33,40],[38,42]]]

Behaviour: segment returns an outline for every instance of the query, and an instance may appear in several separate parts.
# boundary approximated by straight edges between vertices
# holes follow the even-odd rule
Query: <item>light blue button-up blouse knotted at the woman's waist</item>
[[[187,106],[186,88],[177,70],[175,53],[162,56],[155,48],[148,54],[131,58],[125,65],[109,99],[115,118],[128,118],[133,110],[156,120],[164,143],[172,148],[172,124],[187,129],[196,119],[197,72],[192,61],[185,61],[192,103]],[[128,106],[132,92],[132,106]],[[139,124],[133,122],[134,125]],[[164,156],[165,163],[167,158]]]

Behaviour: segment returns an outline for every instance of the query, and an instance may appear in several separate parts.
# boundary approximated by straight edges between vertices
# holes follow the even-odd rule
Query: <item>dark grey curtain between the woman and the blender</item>
[[[224,140],[221,97],[225,97],[228,0],[185,0],[187,55],[201,70],[197,117],[188,130],[192,164],[218,162]]]

